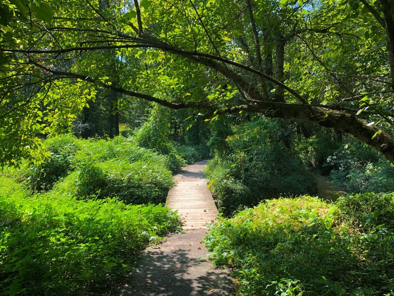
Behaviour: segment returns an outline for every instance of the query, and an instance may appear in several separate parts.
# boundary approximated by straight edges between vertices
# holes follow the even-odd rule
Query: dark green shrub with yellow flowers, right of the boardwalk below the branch
[[[237,126],[227,137],[228,155],[208,165],[209,185],[225,214],[241,205],[281,194],[315,192],[315,181],[284,143],[281,122],[259,119]]]

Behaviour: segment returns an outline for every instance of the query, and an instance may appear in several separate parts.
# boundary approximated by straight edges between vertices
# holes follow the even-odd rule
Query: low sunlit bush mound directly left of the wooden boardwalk
[[[153,161],[86,162],[54,188],[64,195],[118,197],[126,203],[164,203],[172,185],[171,172]]]

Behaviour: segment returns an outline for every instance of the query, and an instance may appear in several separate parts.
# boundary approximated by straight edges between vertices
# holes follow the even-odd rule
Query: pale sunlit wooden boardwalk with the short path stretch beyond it
[[[206,228],[206,223],[214,221],[218,209],[202,169],[206,160],[188,165],[174,176],[177,182],[167,195],[167,207],[177,210],[184,222],[184,229]]]

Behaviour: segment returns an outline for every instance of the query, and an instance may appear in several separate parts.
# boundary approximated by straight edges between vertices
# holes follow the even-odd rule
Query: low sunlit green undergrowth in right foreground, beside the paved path
[[[393,293],[393,197],[267,200],[216,222],[204,241],[245,296]]]

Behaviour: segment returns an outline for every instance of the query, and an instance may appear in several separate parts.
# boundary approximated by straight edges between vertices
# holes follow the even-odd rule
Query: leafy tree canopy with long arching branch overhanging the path
[[[393,0],[5,0],[0,162],[33,158],[99,89],[335,128],[394,162]]]

